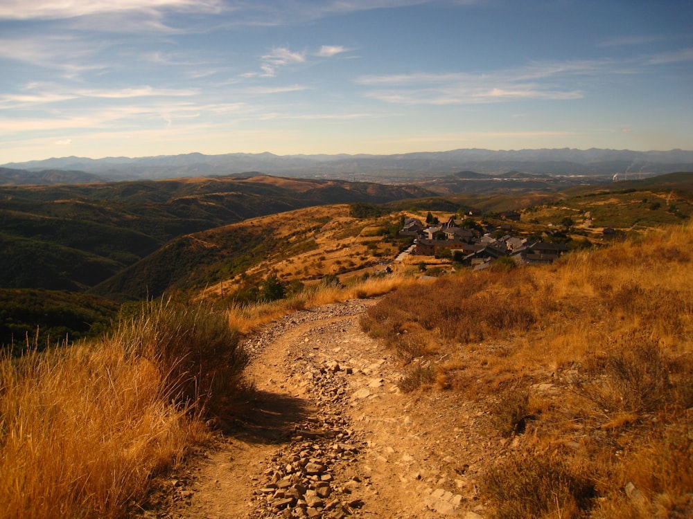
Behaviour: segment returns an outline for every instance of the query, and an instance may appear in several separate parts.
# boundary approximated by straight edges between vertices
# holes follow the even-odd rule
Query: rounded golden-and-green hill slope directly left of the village
[[[158,296],[164,291],[221,295],[256,284],[270,271],[284,280],[319,279],[372,266],[380,255],[392,259],[397,247],[362,233],[398,217],[349,217],[343,204],[299,209],[210,229],[173,240],[156,253],[94,288],[120,298]]]

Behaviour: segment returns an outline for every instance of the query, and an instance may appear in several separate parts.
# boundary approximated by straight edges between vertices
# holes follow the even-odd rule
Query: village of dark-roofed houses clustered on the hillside
[[[416,218],[406,219],[401,237],[414,237],[413,254],[423,256],[439,255],[444,249],[465,266],[481,269],[499,257],[508,256],[518,263],[550,264],[561,254],[568,251],[564,243],[535,242],[527,238],[514,237],[510,234],[511,225],[500,228],[486,226],[478,228],[462,227],[463,220],[450,217],[444,224],[426,225]],[[497,230],[505,231],[502,237],[494,238],[491,234]]]

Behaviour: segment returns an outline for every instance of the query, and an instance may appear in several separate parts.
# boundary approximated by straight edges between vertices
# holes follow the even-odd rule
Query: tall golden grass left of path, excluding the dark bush
[[[118,344],[0,364],[0,517],[119,517],[203,434]]]

